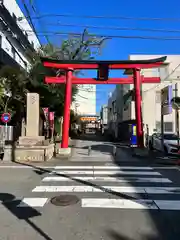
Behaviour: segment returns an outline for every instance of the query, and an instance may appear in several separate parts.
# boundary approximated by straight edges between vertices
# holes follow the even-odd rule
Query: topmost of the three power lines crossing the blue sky
[[[94,15],[74,15],[74,14],[42,14],[34,19],[52,18],[52,17],[67,17],[67,18],[95,18],[95,19],[116,19],[116,20],[138,20],[138,21],[171,21],[180,22],[180,18],[148,18],[148,17],[126,17],[126,16],[94,16]]]

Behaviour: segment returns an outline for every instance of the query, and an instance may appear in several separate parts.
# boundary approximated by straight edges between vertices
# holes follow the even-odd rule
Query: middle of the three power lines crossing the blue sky
[[[130,27],[112,27],[112,26],[97,26],[97,25],[81,25],[81,24],[61,24],[61,23],[46,23],[48,26],[60,26],[60,27],[82,27],[82,28],[94,28],[103,30],[116,30],[116,31],[145,31],[145,32],[168,32],[168,33],[180,33],[180,29],[155,29],[155,28],[130,28]]]

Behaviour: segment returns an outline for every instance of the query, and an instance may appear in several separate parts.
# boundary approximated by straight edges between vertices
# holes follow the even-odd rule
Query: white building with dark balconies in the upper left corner
[[[29,66],[39,40],[15,0],[0,1],[0,67]]]

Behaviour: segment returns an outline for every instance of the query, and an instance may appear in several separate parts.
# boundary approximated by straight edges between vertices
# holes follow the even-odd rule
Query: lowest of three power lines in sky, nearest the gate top
[[[27,31],[31,32],[31,31]],[[44,32],[43,32],[44,33]],[[77,32],[46,32],[48,36],[82,36],[82,33]],[[40,36],[42,32],[38,32],[38,35]],[[42,35],[43,36],[43,35]],[[88,34],[89,37],[105,37],[105,38],[124,38],[124,39],[143,39],[143,40],[167,40],[167,41],[177,41],[180,40],[180,37],[156,37],[156,36],[127,36],[127,35],[107,35],[107,34]]]

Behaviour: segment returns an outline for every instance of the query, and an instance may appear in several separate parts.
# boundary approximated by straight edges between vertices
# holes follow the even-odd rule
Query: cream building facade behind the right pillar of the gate
[[[161,55],[162,56],[162,55]],[[152,59],[160,55],[130,55],[130,59]],[[149,133],[161,130],[161,90],[172,86],[172,97],[175,96],[175,84],[178,86],[177,96],[180,96],[180,55],[167,55],[166,64],[161,68],[145,69],[145,77],[160,77],[160,84],[142,85],[142,117],[148,125]],[[132,88],[133,86],[131,86]],[[135,109],[131,107],[131,118],[135,119]],[[176,131],[175,111],[164,116],[164,131]]]

